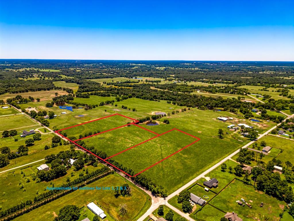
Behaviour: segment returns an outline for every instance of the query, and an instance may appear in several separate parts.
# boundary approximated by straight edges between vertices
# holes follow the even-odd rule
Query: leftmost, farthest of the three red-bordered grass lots
[[[75,136],[76,138],[78,138],[80,134],[84,136],[85,134],[88,134],[89,132],[92,132],[93,134],[93,132],[97,133],[97,131],[100,131],[100,132],[107,131],[119,126],[126,125],[131,122],[133,122],[131,119],[128,119],[126,117],[122,117],[119,115],[114,115],[111,117],[103,118],[100,120],[96,120],[96,121],[85,123],[79,126],[68,128],[63,130],[63,132],[65,132],[68,137]]]

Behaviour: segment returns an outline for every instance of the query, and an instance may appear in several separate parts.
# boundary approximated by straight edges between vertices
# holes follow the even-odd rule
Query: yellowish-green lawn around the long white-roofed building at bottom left
[[[88,187],[116,187],[122,186],[124,183],[125,180],[119,175],[111,174],[89,184]],[[59,214],[59,210],[65,205],[76,205],[84,209],[88,203],[93,201],[106,212],[107,217],[105,220],[114,221],[114,219],[109,218],[110,215],[107,214],[107,208],[109,213],[116,220],[137,220],[150,207],[151,199],[145,192],[138,189],[130,182],[128,182],[128,184],[131,186],[131,197],[118,196],[116,198],[113,190],[76,190],[75,192],[26,213],[15,220],[53,220],[56,214]],[[124,217],[121,217],[119,212],[121,204],[125,204],[127,209],[127,214]]]

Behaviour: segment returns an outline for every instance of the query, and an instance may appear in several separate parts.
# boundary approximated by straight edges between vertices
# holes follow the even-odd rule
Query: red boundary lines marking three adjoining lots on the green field
[[[69,129],[69,128],[73,128],[73,127],[76,127],[76,126],[80,126],[80,125],[83,125],[83,124],[86,124],[86,123],[91,123],[91,122],[93,122],[93,121],[98,121],[98,120],[101,120],[101,119],[104,119],[104,118],[108,118],[108,117],[112,117],[112,116],[115,116],[115,115],[119,115],[119,116],[122,116],[122,117],[125,117],[125,118],[128,118],[128,119],[131,119],[131,120],[133,120],[134,122],[132,122],[132,123],[128,123],[128,124],[125,124],[125,125],[122,125],[122,126],[119,126],[119,127],[116,127],[116,128],[112,128],[112,129],[109,129],[109,130],[106,130],[106,131],[102,131],[102,132],[100,132],[100,133],[96,133],[96,134],[93,134],[93,135],[91,135],[91,136],[83,137],[83,138],[81,138],[81,139],[77,139],[77,140],[75,140],[75,141],[72,141],[72,140],[70,140],[69,138],[67,138],[66,136],[62,135],[61,133],[58,133],[59,131],[63,131],[63,130]],[[117,169],[117,170],[123,172],[124,174],[128,175],[129,177],[136,177],[137,175],[139,175],[139,174],[143,173],[144,171],[150,169],[151,167],[155,166],[156,164],[161,163],[161,162],[164,161],[165,159],[168,159],[169,157],[171,157],[171,156],[177,154],[178,152],[182,151],[183,149],[187,148],[188,146],[191,146],[192,144],[195,144],[197,141],[200,140],[200,138],[198,138],[198,137],[196,137],[196,136],[193,136],[193,135],[191,135],[191,134],[189,134],[189,133],[186,133],[186,132],[184,132],[184,131],[181,131],[181,130],[179,130],[179,129],[177,129],[177,128],[173,128],[173,129],[171,129],[171,130],[169,130],[169,131],[166,131],[166,132],[164,132],[164,133],[162,133],[162,134],[158,134],[158,133],[155,133],[154,131],[148,130],[147,128],[144,128],[144,127],[139,126],[138,124],[136,124],[136,123],[138,123],[138,122],[139,122],[139,121],[136,120],[136,119],[133,119],[133,118],[130,118],[130,117],[127,117],[127,116],[121,115],[121,114],[119,114],[119,113],[115,113],[115,114],[112,114],[112,115],[109,115],[109,116],[105,116],[105,117],[102,117],[102,118],[98,118],[98,119],[95,119],[95,120],[92,120],[92,121],[88,121],[88,122],[85,122],[85,123],[80,123],[80,124],[77,124],[77,125],[74,125],[74,126],[70,126],[70,127],[67,127],[67,128],[63,128],[63,129],[60,129],[60,130],[57,130],[57,131],[54,131],[54,132],[57,133],[57,134],[59,134],[59,135],[62,136],[63,138],[66,138],[68,141],[70,141],[71,143],[77,145],[78,147],[82,148],[83,150],[87,151],[88,153],[92,154],[93,156],[96,156],[97,158],[101,159],[101,160],[104,161],[105,163],[111,165],[111,166],[114,167],[115,169]],[[112,156],[109,156],[109,157],[107,157],[106,159],[102,159],[101,157],[97,156],[96,154],[92,153],[91,151],[87,150],[86,148],[84,148],[84,147],[82,147],[81,145],[79,145],[79,144],[76,143],[76,141],[79,141],[79,140],[82,140],[82,139],[85,139],[85,138],[89,138],[89,137],[92,137],[92,136],[96,136],[96,135],[101,134],[101,133],[106,133],[106,132],[108,132],[108,131],[112,131],[112,130],[115,130],[115,129],[118,129],[118,128],[122,128],[122,127],[125,127],[125,126],[129,126],[129,125],[135,125],[135,126],[137,126],[137,127],[139,127],[139,128],[142,128],[142,129],[144,129],[144,130],[147,130],[147,131],[149,131],[149,132],[151,132],[151,133],[156,134],[156,136],[154,136],[154,137],[152,137],[152,138],[150,138],[150,139],[148,139],[148,140],[146,140],[146,141],[143,141],[143,142],[141,142],[141,143],[139,143],[139,144],[136,144],[135,146],[129,147],[129,148],[127,148],[127,149],[125,149],[125,150],[123,150],[123,151],[121,151],[121,152],[119,152],[119,153],[116,153],[116,154],[114,154],[114,155],[112,155]],[[148,142],[148,141],[150,141],[150,140],[152,140],[152,139],[154,139],[154,138],[157,138],[157,137],[159,137],[159,136],[162,136],[162,135],[164,135],[164,134],[166,134],[166,133],[169,133],[169,132],[171,132],[171,131],[174,131],[174,130],[179,131],[179,132],[181,132],[181,133],[184,133],[184,134],[186,134],[186,135],[188,135],[188,136],[191,136],[191,137],[193,137],[193,138],[196,138],[196,141],[192,142],[191,144],[188,144],[187,146],[184,146],[183,148],[179,149],[178,151],[174,152],[173,154],[171,154],[171,155],[169,155],[169,156],[167,156],[167,157],[161,159],[160,161],[158,161],[158,162],[156,162],[155,164],[153,164],[153,165],[147,167],[146,169],[143,169],[142,171],[140,171],[139,173],[137,173],[137,174],[135,174],[135,175],[133,175],[133,176],[131,176],[130,174],[126,173],[125,171],[119,169],[118,167],[114,166],[113,164],[109,163],[108,161],[106,161],[107,159],[110,159],[110,158],[112,158],[112,157],[114,157],[114,156],[116,156],[116,155],[118,155],[118,154],[121,154],[121,153],[123,153],[123,152],[125,152],[125,151],[128,151],[128,150],[130,150],[130,149],[132,149],[132,148],[134,148],[134,147],[136,147],[136,146],[139,146],[139,145],[141,145],[141,144],[144,144],[144,143],[146,143],[146,142]]]

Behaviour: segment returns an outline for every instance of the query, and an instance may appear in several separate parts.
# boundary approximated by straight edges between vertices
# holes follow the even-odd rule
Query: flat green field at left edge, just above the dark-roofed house
[[[4,117],[1,117],[0,120],[1,120],[0,131],[37,125],[36,122],[34,122],[33,120],[29,119],[28,117],[22,114],[4,116]]]

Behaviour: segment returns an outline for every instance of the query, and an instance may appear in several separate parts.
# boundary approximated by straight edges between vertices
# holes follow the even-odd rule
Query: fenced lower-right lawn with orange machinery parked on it
[[[239,206],[236,201],[245,199],[253,207]],[[259,204],[263,202],[263,207]],[[283,211],[285,203],[263,192],[255,191],[253,186],[245,185],[238,180],[233,181],[210,203],[225,212],[235,212],[243,220],[279,220],[279,214]]]

